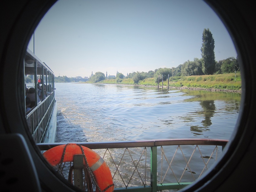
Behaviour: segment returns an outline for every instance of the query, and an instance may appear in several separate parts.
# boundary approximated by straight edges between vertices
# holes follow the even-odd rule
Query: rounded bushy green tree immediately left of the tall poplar
[[[202,75],[202,62],[198,58],[194,58],[194,61],[185,61],[181,67],[181,75]]]

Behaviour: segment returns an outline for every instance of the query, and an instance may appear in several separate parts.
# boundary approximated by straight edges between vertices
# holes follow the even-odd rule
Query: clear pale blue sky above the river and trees
[[[201,58],[204,28],[213,35],[216,61],[237,56],[202,0],[58,0],[35,29],[35,55],[55,76],[126,76]]]

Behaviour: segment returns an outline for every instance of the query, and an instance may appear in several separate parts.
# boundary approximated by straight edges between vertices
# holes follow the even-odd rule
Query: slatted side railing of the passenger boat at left
[[[36,143],[44,142],[47,136],[48,125],[55,105],[55,92],[48,95],[43,101],[39,102],[26,115],[28,128]]]

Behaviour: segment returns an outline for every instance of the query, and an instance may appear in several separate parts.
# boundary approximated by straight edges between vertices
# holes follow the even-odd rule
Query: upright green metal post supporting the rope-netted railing
[[[150,185],[152,192],[157,191],[157,147],[151,147],[150,156]]]

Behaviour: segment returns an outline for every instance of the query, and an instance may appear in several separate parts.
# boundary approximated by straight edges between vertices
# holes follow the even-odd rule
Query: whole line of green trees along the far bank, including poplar
[[[214,38],[209,30],[205,28],[202,34],[201,58],[194,58],[193,61],[185,61],[183,64],[178,65],[176,68],[158,68],[154,71],[148,72],[133,72],[129,73],[127,77],[124,74],[118,73],[116,75],[116,82],[121,82],[123,78],[132,78],[135,84],[145,78],[154,78],[155,82],[159,80],[166,81],[171,76],[191,76],[191,75],[210,75],[210,74],[224,74],[240,71],[238,64],[238,57],[229,57],[220,61],[215,61],[214,53]],[[105,80],[105,74],[96,72],[89,78],[91,82],[99,82]],[[55,77],[55,82],[71,82],[72,79],[67,76]]]

